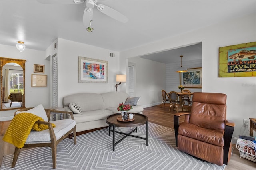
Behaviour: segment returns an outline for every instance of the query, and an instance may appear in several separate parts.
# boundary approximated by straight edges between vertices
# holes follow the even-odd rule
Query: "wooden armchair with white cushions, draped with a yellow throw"
[[[44,119],[44,121],[36,121],[39,124],[48,125],[49,129],[43,131],[34,131],[31,130],[26,143],[23,148],[31,147],[50,147],[52,148],[52,165],[53,168],[56,168],[56,156],[57,156],[57,145],[73,132],[74,135],[74,144],[76,144],[76,121],[74,120],[73,113],[64,113],[70,114],[71,119],[63,119],[57,121],[49,121],[51,112],[56,112],[56,110],[44,109],[42,105],[38,105],[34,108],[25,108],[19,109],[14,113],[14,116],[18,113],[33,113]],[[52,127],[52,123],[56,127]],[[12,161],[12,168],[16,165],[20,149],[15,147],[14,157]]]

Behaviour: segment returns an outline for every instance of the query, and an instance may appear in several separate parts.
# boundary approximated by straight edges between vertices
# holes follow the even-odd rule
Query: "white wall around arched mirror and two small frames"
[[[25,106],[35,107],[42,104],[44,107],[50,107],[50,61],[45,60],[44,51],[38,51],[26,48],[22,53],[17,50],[16,44],[13,46],[0,45],[0,56],[5,58],[25,59]],[[31,87],[31,74],[34,73],[34,64],[45,65],[44,75],[47,77],[47,87]],[[11,120],[16,110],[0,111],[0,121]]]

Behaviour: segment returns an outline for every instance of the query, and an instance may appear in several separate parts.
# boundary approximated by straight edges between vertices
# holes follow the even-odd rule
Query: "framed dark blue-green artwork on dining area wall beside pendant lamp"
[[[185,88],[202,88],[202,67],[180,73],[180,85]]]

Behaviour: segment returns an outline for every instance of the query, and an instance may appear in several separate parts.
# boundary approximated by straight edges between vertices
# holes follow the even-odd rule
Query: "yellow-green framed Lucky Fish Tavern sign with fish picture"
[[[219,48],[219,77],[256,76],[256,42]]]

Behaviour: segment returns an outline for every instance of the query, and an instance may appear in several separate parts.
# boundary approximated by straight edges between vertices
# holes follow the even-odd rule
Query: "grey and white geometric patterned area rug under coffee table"
[[[116,128],[130,132],[131,128]],[[146,125],[138,127],[136,136],[146,137]],[[148,146],[146,140],[128,136],[112,151],[112,133],[108,128],[65,139],[58,144],[57,168],[59,170],[223,170],[180,152],[175,147],[174,129],[149,123]],[[124,135],[116,133],[116,141]],[[13,154],[4,156],[1,170],[50,170],[50,148],[31,148],[20,152],[11,168]]]

